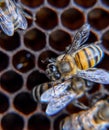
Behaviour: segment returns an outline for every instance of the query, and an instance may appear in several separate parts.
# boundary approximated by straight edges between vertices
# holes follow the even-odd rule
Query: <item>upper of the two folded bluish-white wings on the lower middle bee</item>
[[[54,96],[59,96],[61,93],[63,93],[69,86],[71,85],[71,81],[65,81],[63,83],[57,84],[56,86],[53,86],[52,88],[46,90],[41,95],[41,102],[50,102],[51,98]]]

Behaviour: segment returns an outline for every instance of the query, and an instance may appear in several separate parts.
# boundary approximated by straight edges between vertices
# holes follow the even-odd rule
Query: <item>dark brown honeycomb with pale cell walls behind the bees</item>
[[[87,43],[102,40],[105,56],[97,67],[109,70],[109,0],[21,0],[36,21],[12,37],[0,36],[0,130],[59,130],[60,121],[80,109],[71,104],[48,117],[46,104],[36,103],[31,90],[48,82],[46,58],[57,57],[71,44],[75,31],[85,22],[91,25]],[[95,84],[89,96],[108,85]],[[81,99],[88,104],[88,98]]]

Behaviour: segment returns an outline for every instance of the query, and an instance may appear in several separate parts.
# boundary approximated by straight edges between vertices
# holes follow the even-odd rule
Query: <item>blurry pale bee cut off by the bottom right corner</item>
[[[109,102],[98,101],[89,110],[66,117],[60,123],[60,130],[107,130],[109,126]]]

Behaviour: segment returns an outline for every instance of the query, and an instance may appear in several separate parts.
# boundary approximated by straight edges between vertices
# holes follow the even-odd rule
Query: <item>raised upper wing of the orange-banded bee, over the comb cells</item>
[[[82,44],[84,44],[90,33],[90,25],[89,24],[84,24],[76,33],[74,40],[70,46],[67,48],[67,54],[72,53],[76,51]]]

